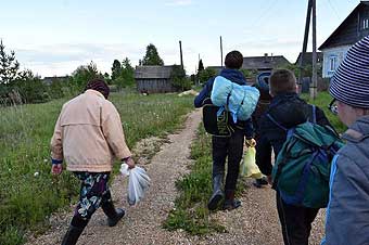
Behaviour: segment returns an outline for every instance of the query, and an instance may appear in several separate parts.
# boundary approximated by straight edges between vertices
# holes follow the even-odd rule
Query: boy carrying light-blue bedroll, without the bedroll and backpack
[[[243,56],[239,51],[232,51],[226,55],[226,68],[219,76],[231,80],[238,85],[246,85],[243,74],[239,70],[243,63]],[[202,107],[205,99],[211,96],[215,78],[211,78],[203,90],[194,100],[195,107]],[[234,209],[241,206],[241,202],[234,199],[237,179],[240,170],[240,162],[243,153],[244,137],[247,140],[253,138],[252,120],[229,122],[234,130],[229,138],[213,136],[213,195],[208,202],[208,209],[214,210],[224,197],[221,191],[222,179],[225,175],[226,158],[228,157],[228,171],[226,177],[225,193],[226,199],[224,209]]]

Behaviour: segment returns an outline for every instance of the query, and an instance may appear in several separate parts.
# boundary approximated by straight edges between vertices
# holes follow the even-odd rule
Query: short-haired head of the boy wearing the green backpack
[[[276,69],[269,78],[269,90],[272,96],[278,93],[296,92],[295,75],[289,69]]]

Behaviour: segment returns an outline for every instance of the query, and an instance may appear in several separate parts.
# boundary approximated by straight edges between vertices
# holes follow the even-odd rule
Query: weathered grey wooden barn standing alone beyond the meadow
[[[171,83],[173,65],[137,66],[135,79],[137,89],[141,93],[166,93],[178,91]]]

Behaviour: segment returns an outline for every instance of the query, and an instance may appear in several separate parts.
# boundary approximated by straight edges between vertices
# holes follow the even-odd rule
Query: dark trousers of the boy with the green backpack
[[[311,223],[319,208],[288,205],[277,192],[277,209],[284,245],[308,245]]]

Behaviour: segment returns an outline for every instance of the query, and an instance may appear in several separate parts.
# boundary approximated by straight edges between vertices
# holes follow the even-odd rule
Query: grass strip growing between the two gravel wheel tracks
[[[211,220],[206,206],[212,194],[212,153],[211,137],[202,125],[191,146],[191,157],[195,164],[189,175],[176,182],[180,196],[163,227],[170,231],[182,229],[193,235],[225,232],[222,225]]]

